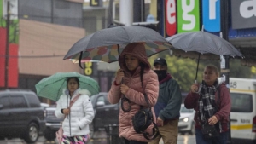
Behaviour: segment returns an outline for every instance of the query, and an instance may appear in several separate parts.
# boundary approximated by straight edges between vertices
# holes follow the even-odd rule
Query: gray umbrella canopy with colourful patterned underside
[[[74,43],[64,57],[74,63],[104,61],[111,63],[129,43],[143,43],[148,56],[172,47],[160,33],[143,26],[117,26],[102,29]]]

